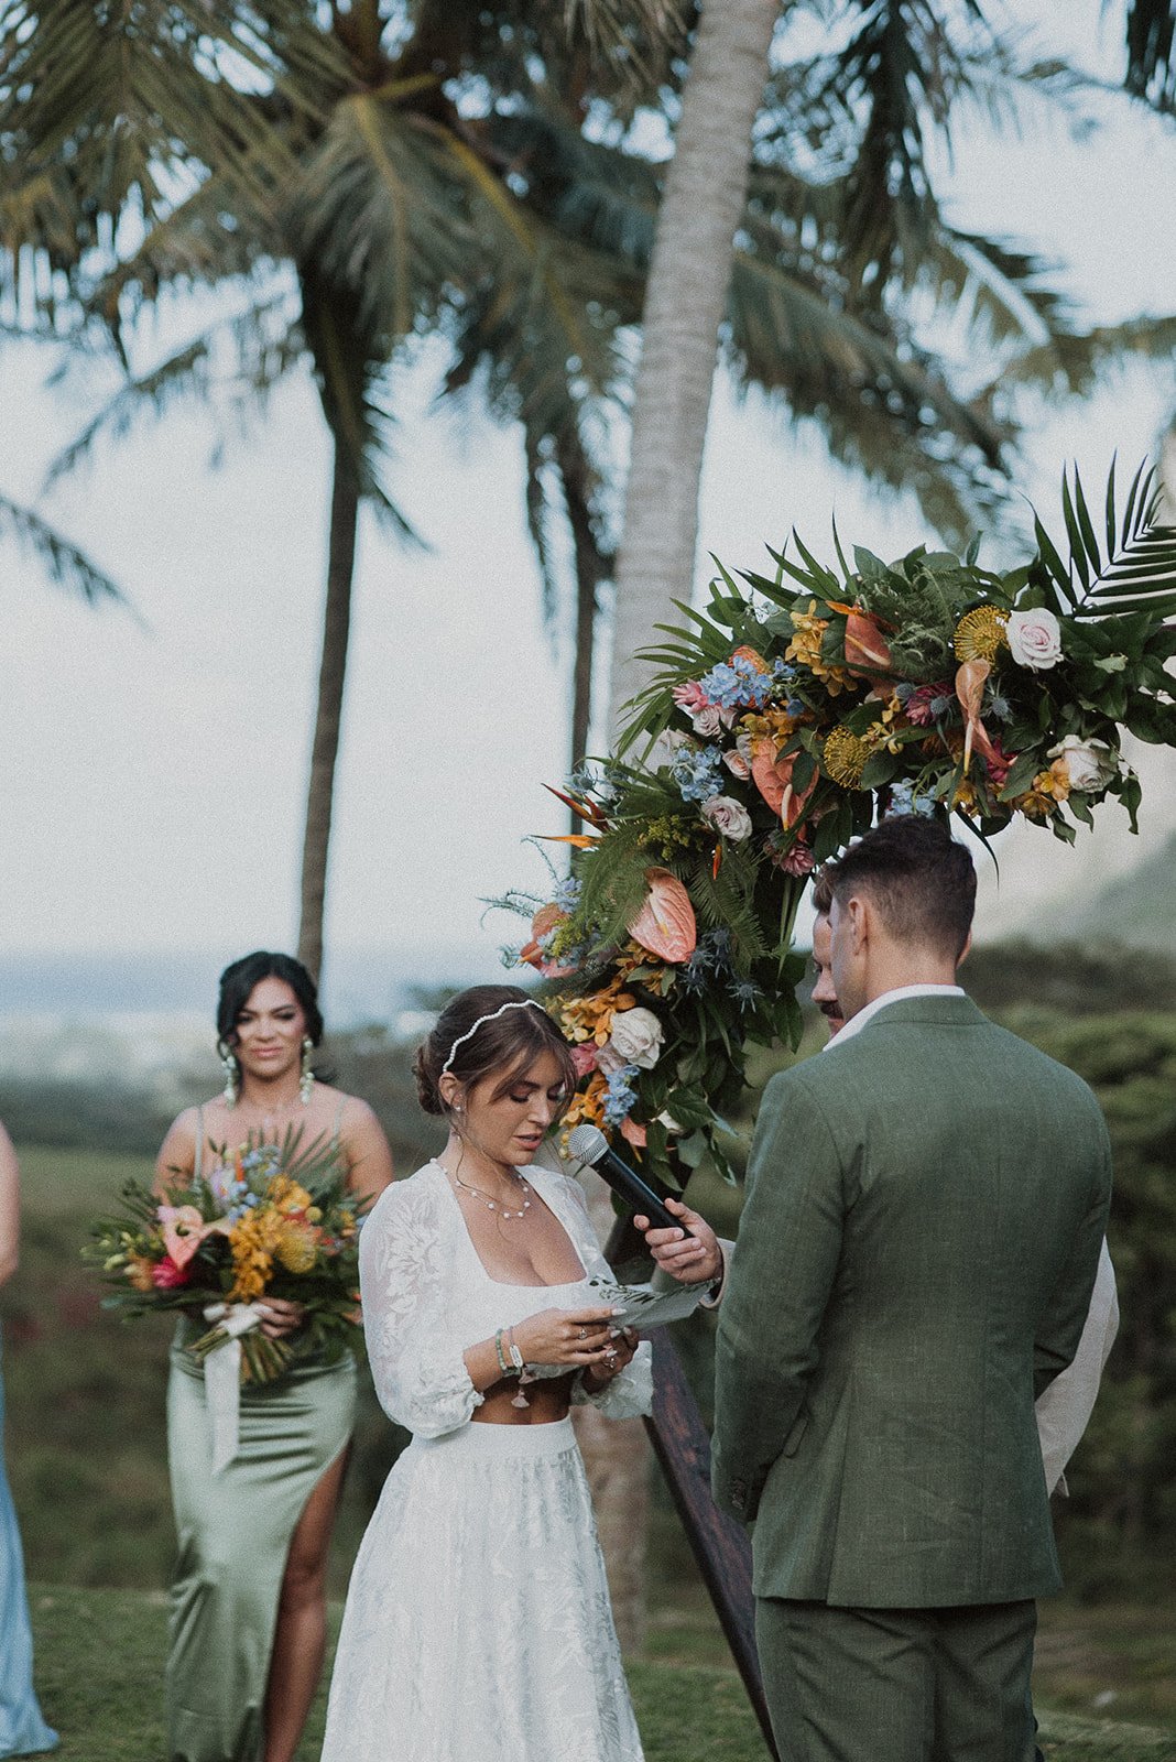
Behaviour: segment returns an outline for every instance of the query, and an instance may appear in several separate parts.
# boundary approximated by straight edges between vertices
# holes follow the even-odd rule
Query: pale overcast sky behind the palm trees
[[[1097,0],[1016,0],[1088,65],[1114,70]],[[1058,30],[1065,41],[1058,39]],[[954,217],[1069,266],[1091,319],[1172,303],[1176,132],[1128,111],[1076,143],[1044,115],[1000,148],[968,130],[951,169]],[[0,490],[35,500],[48,462],[93,411],[85,375],[49,386],[33,347],[0,351]],[[542,892],[530,833],[560,832],[542,784],[565,774],[570,650],[542,627],[523,525],[518,435],[437,414],[435,363],[400,393],[393,493],[430,541],[405,552],[364,523],[331,860],[326,973],[394,974],[452,951],[486,973],[516,923],[484,900]],[[1062,465],[1102,483],[1134,465],[1176,409],[1171,372],[1130,370],[1083,409],[1044,416],[1025,492],[1056,520]],[[209,419],[173,414],[53,490],[42,511],[123,585],[136,617],[88,611],[0,546],[0,960],[48,953],[208,953],[209,974],[254,946],[290,946],[317,673],[327,444],[308,381],[211,463]],[[820,550],[836,515],[854,541],[898,553],[917,511],[882,504],[815,437],[722,382],[701,497],[699,585],[709,553],[759,566],[796,522]],[[1148,779],[1146,779],[1148,781]],[[1160,765],[1143,848],[1176,825]],[[1123,825],[1065,853],[1028,832],[986,879],[982,929],[1021,927],[1136,855]],[[1016,848],[1014,848],[1016,846]],[[424,951],[430,951],[430,962]],[[4,1001],[0,999],[0,1010]]]

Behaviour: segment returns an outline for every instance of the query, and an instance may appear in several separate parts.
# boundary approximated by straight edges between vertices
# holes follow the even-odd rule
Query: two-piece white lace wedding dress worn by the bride
[[[363,1226],[368,1357],[412,1433],[356,1558],[322,1762],[641,1762],[641,1739],[570,1418],[470,1424],[461,1353],[537,1309],[597,1302],[607,1277],[583,1195],[526,1177],[584,1267],[572,1284],[500,1284],[444,1170],[387,1188]],[[599,1397],[650,1411],[650,1348]]]

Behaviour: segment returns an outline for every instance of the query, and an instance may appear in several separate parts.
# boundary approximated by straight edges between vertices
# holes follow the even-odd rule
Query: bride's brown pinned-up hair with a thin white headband
[[[503,1004],[526,1004],[526,1008],[505,1010]],[[502,1015],[496,1015],[498,1010]],[[488,1017],[493,1020],[486,1020]],[[475,1022],[479,1027],[470,1033]],[[570,1098],[576,1087],[572,1048],[542,1004],[518,985],[472,985],[449,999],[433,1033],[417,1047],[412,1070],[421,1107],[426,1114],[451,1112],[440,1092],[440,1078],[451,1054],[449,1070],[467,1089],[498,1075],[502,1078],[498,1089],[505,1091],[544,1052],[555,1052],[560,1061],[563,1087]]]

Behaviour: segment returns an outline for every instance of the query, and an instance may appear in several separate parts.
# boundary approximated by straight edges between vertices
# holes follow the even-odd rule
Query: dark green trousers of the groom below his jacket
[[[1037,1605],[755,1603],[782,1762],[1033,1762]]]

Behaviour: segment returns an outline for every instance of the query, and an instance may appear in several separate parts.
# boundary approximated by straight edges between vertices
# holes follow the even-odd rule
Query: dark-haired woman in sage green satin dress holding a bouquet
[[[364,1101],[312,1073],[322,1015],[310,973],[254,953],[220,976],[224,1096],[188,1108],[158,1154],[157,1189],[217,1179],[218,1149],[329,1140],[356,1198],[393,1179],[387,1140]],[[268,1300],[262,1332],[294,1337],[301,1309]],[[303,1355],[241,1388],[239,1445],[213,1477],[204,1373],[180,1323],[171,1353],[167,1452],[180,1554],[167,1660],[169,1762],[290,1762],[326,1649],[326,1561],[347,1466],[356,1367]]]

